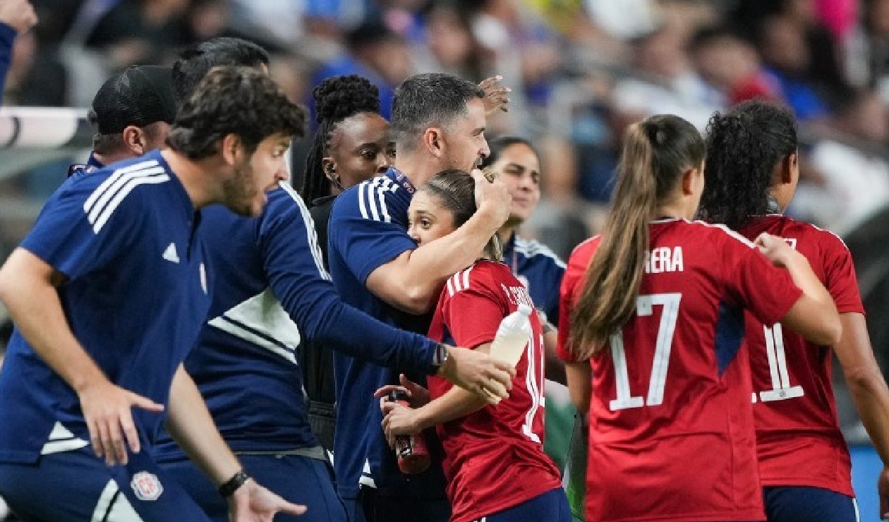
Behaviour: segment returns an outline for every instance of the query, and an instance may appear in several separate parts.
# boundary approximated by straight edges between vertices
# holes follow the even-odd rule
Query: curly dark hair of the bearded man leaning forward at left
[[[305,123],[305,110],[265,73],[223,66],[212,68],[182,102],[166,141],[197,160],[212,156],[223,138],[236,134],[252,154],[273,134],[301,138]]]

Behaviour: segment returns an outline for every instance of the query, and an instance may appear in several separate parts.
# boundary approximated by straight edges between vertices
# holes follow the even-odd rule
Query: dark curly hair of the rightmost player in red
[[[775,165],[797,152],[797,122],[789,109],[749,100],[717,112],[706,142],[701,218],[739,229],[767,213]]]

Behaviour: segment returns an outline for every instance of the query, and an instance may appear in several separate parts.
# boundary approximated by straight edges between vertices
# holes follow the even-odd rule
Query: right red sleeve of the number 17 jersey
[[[764,325],[774,325],[803,295],[790,273],[779,269],[747,239],[726,230],[725,281],[733,301]]]

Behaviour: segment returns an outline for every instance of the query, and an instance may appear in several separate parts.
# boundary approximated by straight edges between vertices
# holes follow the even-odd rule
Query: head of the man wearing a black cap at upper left
[[[91,172],[164,146],[176,117],[171,68],[137,65],[111,76],[96,92],[87,119],[96,128],[92,154],[68,174]]]

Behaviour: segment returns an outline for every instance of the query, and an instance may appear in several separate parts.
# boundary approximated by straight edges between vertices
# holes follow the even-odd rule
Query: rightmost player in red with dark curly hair
[[[833,344],[883,462],[889,462],[889,389],[870,348],[852,256],[825,230],[781,215],[797,188],[797,125],[789,110],[748,101],[710,118],[701,214],[746,237],[783,237],[812,264],[843,323]],[[752,319],[752,317],[748,317]],[[747,325],[759,471],[770,521],[857,519],[851,460],[837,422],[831,349],[780,324]],[[877,483],[886,512],[889,470]]]

